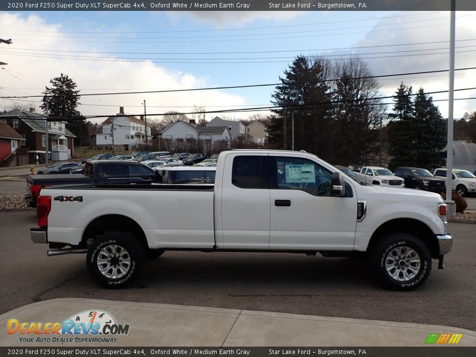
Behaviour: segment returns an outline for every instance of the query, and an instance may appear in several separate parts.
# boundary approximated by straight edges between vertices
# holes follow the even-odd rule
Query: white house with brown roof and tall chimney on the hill
[[[101,124],[102,131],[96,134],[96,145],[124,145],[125,150],[145,145],[145,127],[145,121],[142,118],[126,116],[124,115],[124,107],[119,107],[117,116],[109,117]],[[147,125],[147,141],[149,144],[152,143],[150,125]]]

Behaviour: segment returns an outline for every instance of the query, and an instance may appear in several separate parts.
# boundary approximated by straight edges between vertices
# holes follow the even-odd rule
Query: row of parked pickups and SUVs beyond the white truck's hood
[[[395,172],[375,166],[336,166],[346,175],[362,185],[383,185],[391,187],[407,187],[431,192],[446,190],[446,168],[438,168],[433,174],[426,169],[416,167],[398,167]],[[476,171],[453,169],[452,190],[460,196],[476,193]]]

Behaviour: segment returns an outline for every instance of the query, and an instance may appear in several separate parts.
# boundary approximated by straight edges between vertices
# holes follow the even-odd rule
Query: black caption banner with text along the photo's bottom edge
[[[0,347],[0,356],[473,357],[476,347]]]

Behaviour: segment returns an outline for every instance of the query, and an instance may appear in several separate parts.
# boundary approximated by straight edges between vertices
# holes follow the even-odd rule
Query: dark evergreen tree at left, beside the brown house
[[[76,135],[76,144],[82,145],[87,142],[88,129],[86,118],[81,116],[76,108],[80,104],[79,91],[76,83],[68,75],[61,73],[60,77],[50,80],[51,88],[45,87],[43,92],[48,98],[48,117],[66,121],[66,129]],[[41,106],[46,112],[46,102]]]

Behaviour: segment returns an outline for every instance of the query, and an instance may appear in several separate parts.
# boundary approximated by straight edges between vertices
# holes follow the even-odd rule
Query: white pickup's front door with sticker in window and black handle
[[[357,196],[331,195],[332,172],[308,158],[270,154],[270,249],[352,250]],[[274,165],[273,165],[274,160]]]

